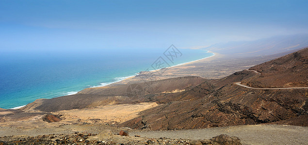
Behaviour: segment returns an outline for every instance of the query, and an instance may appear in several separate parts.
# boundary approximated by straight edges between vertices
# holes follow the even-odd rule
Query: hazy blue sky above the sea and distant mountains
[[[0,50],[195,48],[308,32],[308,0],[0,0]]]

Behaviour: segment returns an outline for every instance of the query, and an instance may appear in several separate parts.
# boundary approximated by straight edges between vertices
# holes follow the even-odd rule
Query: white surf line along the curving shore
[[[215,52],[211,52],[211,51],[209,51],[209,50],[205,50],[205,51],[207,51],[206,53],[211,53],[212,55],[209,56],[209,57],[200,58],[200,59],[197,59],[197,60],[193,60],[193,61],[189,61],[189,62],[180,63],[180,64],[177,64],[177,65],[174,65],[174,66],[170,66],[170,67],[166,67],[166,68],[172,68],[172,67],[182,66],[182,65],[186,65],[186,64],[191,64],[191,63],[195,63],[196,61],[200,61],[200,60],[204,60],[204,59],[206,59],[206,58],[211,58],[211,57],[217,56],[217,53],[215,53]],[[164,68],[162,68],[162,69],[164,69]],[[160,70],[162,70],[162,69],[151,70],[151,71],[148,71],[148,72],[156,72],[156,71],[160,71]],[[137,76],[137,75],[139,75],[139,74],[140,74],[140,73],[136,73],[135,75],[125,76],[125,77],[116,77],[116,78],[114,78],[114,79],[118,79],[118,80],[116,80],[116,81],[114,81],[114,82],[100,83],[101,85],[99,85],[99,86],[91,86],[91,87],[87,87],[87,88],[106,87],[106,86],[109,86],[109,85],[112,85],[112,84],[115,84],[115,83],[119,83],[119,82],[121,82],[121,81],[125,81],[125,80],[128,80],[128,79],[134,78],[135,76]],[[104,84],[104,85],[102,85],[102,84]],[[81,90],[79,90],[79,91],[81,91]],[[67,95],[64,95],[64,96],[75,95],[75,94],[77,94],[79,91],[77,91],[77,92],[76,92],[76,91],[66,92],[66,93],[68,93],[68,94],[67,94]],[[74,93],[72,93],[72,92],[74,92]],[[62,97],[62,96],[59,96],[59,97]],[[54,97],[54,98],[57,98],[57,97]],[[27,105],[27,104],[26,104],[26,105]],[[24,107],[24,106],[26,106],[26,105],[16,106],[16,107],[13,107],[13,108],[10,108],[10,109],[19,109],[19,108],[22,108],[22,107]]]

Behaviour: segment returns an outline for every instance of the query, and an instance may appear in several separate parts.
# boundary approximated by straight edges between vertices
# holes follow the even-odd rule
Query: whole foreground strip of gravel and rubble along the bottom
[[[0,128],[0,144],[4,145],[10,143],[55,145],[55,143],[65,142],[66,144],[75,143],[75,145],[116,145],[119,143],[130,145],[201,145],[200,143],[209,143],[212,137],[220,134],[237,136],[243,145],[306,145],[308,142],[307,127],[289,125],[245,125],[181,131],[130,130],[110,125],[89,124],[63,125],[44,129]],[[130,136],[115,135],[121,130],[128,130]],[[87,136],[83,137],[85,134]],[[135,135],[140,135],[140,137],[135,137]]]

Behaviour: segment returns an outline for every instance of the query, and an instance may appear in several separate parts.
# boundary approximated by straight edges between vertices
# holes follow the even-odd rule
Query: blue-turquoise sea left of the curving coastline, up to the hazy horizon
[[[103,49],[0,53],[0,108],[26,105],[40,98],[105,86],[141,71],[154,70],[158,58],[170,66],[210,57],[205,50],[178,49],[169,60],[166,49]],[[160,59],[161,59],[160,58]]]

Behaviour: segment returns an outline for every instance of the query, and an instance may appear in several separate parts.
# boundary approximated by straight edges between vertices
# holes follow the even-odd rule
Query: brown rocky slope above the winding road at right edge
[[[243,81],[251,87],[308,87],[308,49],[256,65],[261,75]]]

